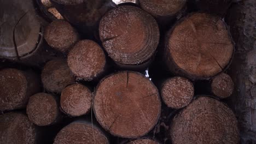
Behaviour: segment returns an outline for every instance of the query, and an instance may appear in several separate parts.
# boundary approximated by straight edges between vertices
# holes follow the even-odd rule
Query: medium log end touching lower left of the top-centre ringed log
[[[67,62],[77,79],[91,81],[103,74],[106,56],[94,41],[80,40],[68,53]]]

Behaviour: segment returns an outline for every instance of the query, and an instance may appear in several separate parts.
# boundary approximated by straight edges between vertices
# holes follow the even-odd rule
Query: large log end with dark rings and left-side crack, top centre
[[[154,18],[130,5],[108,11],[101,19],[99,31],[103,47],[118,64],[139,65],[150,61],[159,43],[159,28]]]

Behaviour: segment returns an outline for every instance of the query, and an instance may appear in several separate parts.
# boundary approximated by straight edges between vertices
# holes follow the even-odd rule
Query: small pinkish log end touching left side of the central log
[[[82,84],[69,85],[61,92],[61,109],[69,116],[77,117],[91,109],[92,93]]]

